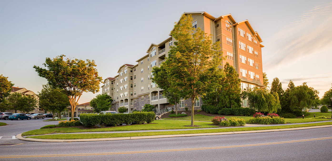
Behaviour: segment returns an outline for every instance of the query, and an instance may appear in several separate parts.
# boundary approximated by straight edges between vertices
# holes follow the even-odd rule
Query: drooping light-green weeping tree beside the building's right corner
[[[255,87],[241,93],[242,99],[248,98],[249,107],[258,112],[276,113],[281,109],[278,93]]]

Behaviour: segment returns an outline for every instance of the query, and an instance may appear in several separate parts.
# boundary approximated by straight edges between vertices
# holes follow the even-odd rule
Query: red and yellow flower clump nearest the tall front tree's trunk
[[[211,122],[214,125],[220,126],[244,126],[246,125],[246,121],[242,118],[231,117],[228,120],[225,117],[214,117],[211,119]]]

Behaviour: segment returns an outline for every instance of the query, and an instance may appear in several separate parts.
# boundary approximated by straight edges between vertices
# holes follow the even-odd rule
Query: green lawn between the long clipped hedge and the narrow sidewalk
[[[79,128],[50,128],[50,129],[37,129],[24,132],[22,136],[26,135],[41,135],[50,133],[78,133],[78,132],[110,132],[110,131],[135,131],[135,130],[168,130],[168,129],[197,129],[197,128],[217,128],[212,126],[212,122],[195,122],[195,125],[200,127],[186,127],[190,125],[190,121],[175,121],[175,120],[155,120],[151,124],[107,127],[98,129],[79,129]]]

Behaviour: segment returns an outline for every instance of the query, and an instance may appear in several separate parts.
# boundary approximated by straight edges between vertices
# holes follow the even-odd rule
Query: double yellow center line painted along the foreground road
[[[301,141],[313,141],[331,139],[332,137],[320,137],[302,140],[290,140],[280,142],[258,143],[258,144],[246,144],[246,145],[231,145],[231,146],[216,146],[216,147],[201,147],[201,148],[185,148],[185,149],[165,149],[165,150],[147,150],[147,151],[127,151],[127,152],[109,152],[109,153],[81,153],[81,154],[46,154],[46,155],[8,155],[0,156],[0,158],[30,158],[30,157],[60,157],[60,156],[87,156],[87,155],[114,155],[114,154],[134,154],[134,153],[153,153],[153,152],[171,152],[171,151],[187,151],[187,150],[204,150],[204,149],[221,149],[232,147],[246,147],[246,146],[258,146],[258,145],[271,145],[271,144],[283,144]]]

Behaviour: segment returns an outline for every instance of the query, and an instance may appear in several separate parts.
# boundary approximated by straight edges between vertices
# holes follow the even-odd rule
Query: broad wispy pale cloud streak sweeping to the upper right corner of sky
[[[301,57],[332,50],[332,4],[316,6],[303,13],[275,34],[274,48],[269,48],[270,68]]]

